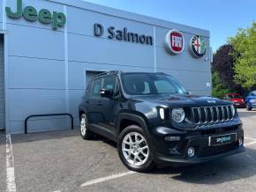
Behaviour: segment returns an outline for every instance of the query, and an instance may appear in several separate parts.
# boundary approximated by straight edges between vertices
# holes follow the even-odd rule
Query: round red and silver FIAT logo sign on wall
[[[164,43],[171,54],[180,54],[184,50],[184,35],[177,30],[170,30],[169,33],[165,35]]]

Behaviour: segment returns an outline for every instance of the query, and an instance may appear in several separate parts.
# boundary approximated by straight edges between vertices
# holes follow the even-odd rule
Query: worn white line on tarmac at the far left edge
[[[6,135],[6,191],[16,192],[11,135]]]

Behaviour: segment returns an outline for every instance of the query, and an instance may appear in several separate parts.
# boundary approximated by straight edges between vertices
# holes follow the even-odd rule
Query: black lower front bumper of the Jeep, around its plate
[[[168,133],[169,130],[169,133]],[[244,130],[241,125],[230,128],[201,129],[194,131],[179,131],[170,128],[156,128],[154,132],[154,161],[163,166],[182,166],[219,159],[245,151],[244,145],[239,145],[238,139],[244,140]],[[228,131],[225,131],[228,130]],[[168,133],[168,134],[166,134]],[[226,134],[237,134],[236,141],[230,144],[209,146],[209,137]],[[180,137],[179,141],[165,141],[164,137]],[[187,155],[189,147],[195,149],[193,157]]]

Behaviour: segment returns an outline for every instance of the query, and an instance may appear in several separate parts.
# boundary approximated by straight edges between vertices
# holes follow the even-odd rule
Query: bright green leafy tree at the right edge
[[[256,86],[256,22],[246,29],[238,29],[236,36],[229,38],[234,48],[235,82],[245,89]]]

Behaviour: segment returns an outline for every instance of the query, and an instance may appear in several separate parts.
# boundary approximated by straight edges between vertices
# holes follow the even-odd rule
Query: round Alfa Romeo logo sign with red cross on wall
[[[206,54],[207,43],[200,35],[194,35],[190,41],[191,53],[195,57],[202,57]]]

